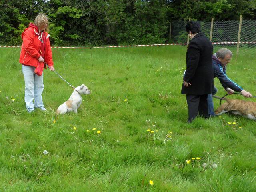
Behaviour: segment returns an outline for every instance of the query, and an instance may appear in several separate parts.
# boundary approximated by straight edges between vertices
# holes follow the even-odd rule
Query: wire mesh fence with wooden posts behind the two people
[[[186,33],[187,21],[172,21],[170,31],[170,42],[174,43],[186,43],[188,42],[188,34]],[[239,20],[234,21],[199,21],[201,30],[204,34],[210,38],[211,24],[212,26],[212,39],[213,43],[219,42],[238,42],[239,26],[241,24],[240,41],[239,42],[256,42],[256,20]],[[214,44],[214,51],[219,48],[230,49],[235,56],[255,56],[256,55],[256,43],[237,43],[233,44]]]

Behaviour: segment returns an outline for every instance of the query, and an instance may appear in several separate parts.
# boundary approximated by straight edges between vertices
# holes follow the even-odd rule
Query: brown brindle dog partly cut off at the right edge
[[[214,98],[221,99],[218,96],[214,96]],[[217,108],[214,113],[216,115],[220,115],[222,113],[231,112],[236,115],[240,115],[252,120],[256,120],[256,103],[250,101],[243,101],[239,99],[227,99],[223,98],[226,102]]]

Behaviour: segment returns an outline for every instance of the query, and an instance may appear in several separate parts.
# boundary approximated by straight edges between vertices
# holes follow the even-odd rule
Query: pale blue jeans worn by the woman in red
[[[44,90],[43,75],[34,73],[35,67],[22,65],[22,73],[25,80],[25,103],[28,112],[35,108],[44,108],[42,92]],[[35,104],[33,103],[35,100]]]

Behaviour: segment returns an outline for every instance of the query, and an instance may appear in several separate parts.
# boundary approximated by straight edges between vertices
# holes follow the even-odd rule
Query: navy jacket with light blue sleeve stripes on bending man
[[[228,76],[226,75],[226,67],[222,66],[220,64],[220,61],[216,57],[216,54],[212,56],[212,66],[213,66],[213,77],[217,77],[220,80],[220,83],[226,90],[227,88],[230,88],[236,92],[241,92],[243,89],[238,84],[236,84],[234,81],[232,81]]]

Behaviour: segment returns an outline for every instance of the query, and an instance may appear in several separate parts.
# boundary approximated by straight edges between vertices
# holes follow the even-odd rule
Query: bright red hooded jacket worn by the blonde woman
[[[38,58],[42,56],[49,66],[53,66],[49,36],[47,32],[39,32],[37,26],[30,23],[29,27],[21,34],[23,42],[20,51],[20,63],[36,67]]]

